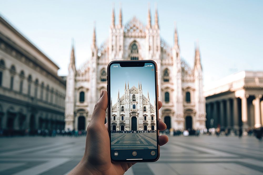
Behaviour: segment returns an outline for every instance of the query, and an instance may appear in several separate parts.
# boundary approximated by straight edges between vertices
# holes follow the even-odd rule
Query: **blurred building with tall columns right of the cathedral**
[[[207,128],[263,126],[263,72],[242,71],[205,87]]]

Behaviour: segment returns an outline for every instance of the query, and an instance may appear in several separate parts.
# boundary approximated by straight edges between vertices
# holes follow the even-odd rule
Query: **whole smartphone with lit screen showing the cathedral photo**
[[[112,61],[107,72],[112,162],[157,161],[160,146],[156,63]]]

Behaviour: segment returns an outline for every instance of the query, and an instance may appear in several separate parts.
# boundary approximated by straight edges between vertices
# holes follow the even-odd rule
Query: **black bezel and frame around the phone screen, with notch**
[[[157,64],[153,60],[115,60],[111,61],[108,64],[107,67],[107,92],[108,92],[108,133],[109,133],[109,138],[110,138],[110,148],[111,148],[111,132],[110,132],[110,66],[112,64],[124,64],[126,66],[124,67],[141,67],[141,66],[136,66],[136,64],[142,64],[142,63],[153,63],[154,68],[155,68],[155,104],[156,104],[156,139],[157,139],[157,157],[155,159],[143,159],[143,160],[113,160],[112,155],[110,154],[110,159],[112,162],[155,162],[160,158],[160,145],[159,145],[159,128],[158,128],[158,121],[159,121],[159,109],[158,109],[158,71],[157,71]],[[112,151],[110,149],[110,151]]]

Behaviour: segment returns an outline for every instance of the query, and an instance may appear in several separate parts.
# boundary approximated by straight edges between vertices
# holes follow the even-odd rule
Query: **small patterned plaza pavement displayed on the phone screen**
[[[156,132],[112,133],[112,149],[156,149]]]

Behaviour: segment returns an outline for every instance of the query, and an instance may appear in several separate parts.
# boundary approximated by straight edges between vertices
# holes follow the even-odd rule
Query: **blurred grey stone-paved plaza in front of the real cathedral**
[[[84,148],[84,136],[0,138],[0,174],[67,174]],[[137,163],[125,174],[263,174],[263,142],[252,136],[170,136],[157,162]]]

